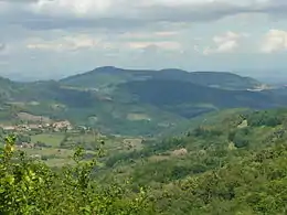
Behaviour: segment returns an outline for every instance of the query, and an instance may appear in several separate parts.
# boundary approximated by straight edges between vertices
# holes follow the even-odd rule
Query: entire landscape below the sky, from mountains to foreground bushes
[[[287,212],[284,88],[226,73],[100,69],[2,79],[0,212]]]

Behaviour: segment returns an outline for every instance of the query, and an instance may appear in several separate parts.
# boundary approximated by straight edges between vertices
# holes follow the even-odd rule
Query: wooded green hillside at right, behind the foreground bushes
[[[164,214],[285,214],[286,122],[287,109],[226,114],[110,157],[102,175],[150,186]]]

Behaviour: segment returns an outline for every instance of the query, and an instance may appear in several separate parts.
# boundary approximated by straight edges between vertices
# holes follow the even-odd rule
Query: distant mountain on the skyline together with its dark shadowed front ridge
[[[286,104],[275,93],[247,90],[263,85],[256,79],[226,72],[189,73],[173,68],[148,71],[106,66],[70,76],[60,83],[63,86],[95,90],[117,104],[114,106],[118,106],[116,109],[119,109],[119,104],[127,109],[149,106],[156,108],[157,112],[170,112],[187,119],[225,108],[262,109]],[[151,116],[144,109],[132,115]],[[170,119],[164,123],[171,123]]]

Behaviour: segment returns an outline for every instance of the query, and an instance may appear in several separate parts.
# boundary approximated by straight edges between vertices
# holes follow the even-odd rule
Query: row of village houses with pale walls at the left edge
[[[31,131],[31,130],[72,130],[73,126],[70,121],[63,120],[53,123],[23,123],[17,126],[3,126],[0,125],[4,131]]]

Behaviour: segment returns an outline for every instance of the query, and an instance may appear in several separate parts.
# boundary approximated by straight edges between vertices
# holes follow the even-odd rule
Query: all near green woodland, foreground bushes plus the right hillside
[[[78,148],[74,164],[57,169],[14,150],[11,136],[0,157],[0,212],[283,215],[286,129],[286,109],[246,110],[113,157]]]

